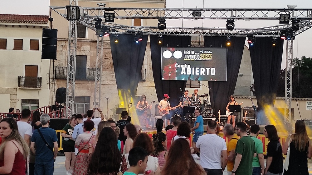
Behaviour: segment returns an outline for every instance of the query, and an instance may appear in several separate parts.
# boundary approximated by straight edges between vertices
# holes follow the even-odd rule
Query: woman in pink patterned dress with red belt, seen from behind
[[[83,133],[77,136],[75,147],[78,148],[78,154],[74,162],[73,175],[85,175],[88,168],[88,155],[89,145],[93,133],[91,130],[94,128],[94,122],[92,120],[86,120],[83,122]]]

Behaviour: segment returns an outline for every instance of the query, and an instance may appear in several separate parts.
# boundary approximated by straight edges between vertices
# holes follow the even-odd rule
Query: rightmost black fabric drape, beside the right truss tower
[[[262,111],[265,105],[274,106],[282,63],[283,41],[277,39],[277,44],[273,47],[271,37],[257,37],[256,43],[249,47],[258,112]],[[258,115],[259,117],[261,115]],[[261,122],[261,118],[259,119]]]

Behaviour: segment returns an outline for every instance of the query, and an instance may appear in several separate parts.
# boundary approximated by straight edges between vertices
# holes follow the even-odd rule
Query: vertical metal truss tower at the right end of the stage
[[[286,67],[285,67],[285,111],[284,122],[290,122],[291,115],[291,85],[292,85],[292,58],[294,40],[287,40],[286,44]]]

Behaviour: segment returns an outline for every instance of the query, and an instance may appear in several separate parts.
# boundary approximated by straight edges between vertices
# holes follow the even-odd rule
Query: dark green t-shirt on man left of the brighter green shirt
[[[237,141],[235,153],[241,154],[241,162],[235,171],[235,175],[252,174],[252,159],[253,154],[256,153],[254,140],[250,136],[242,136]]]

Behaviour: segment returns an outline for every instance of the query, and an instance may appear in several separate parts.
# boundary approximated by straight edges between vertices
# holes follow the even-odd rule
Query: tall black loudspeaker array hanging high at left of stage
[[[42,29],[41,59],[56,60],[57,29]]]

